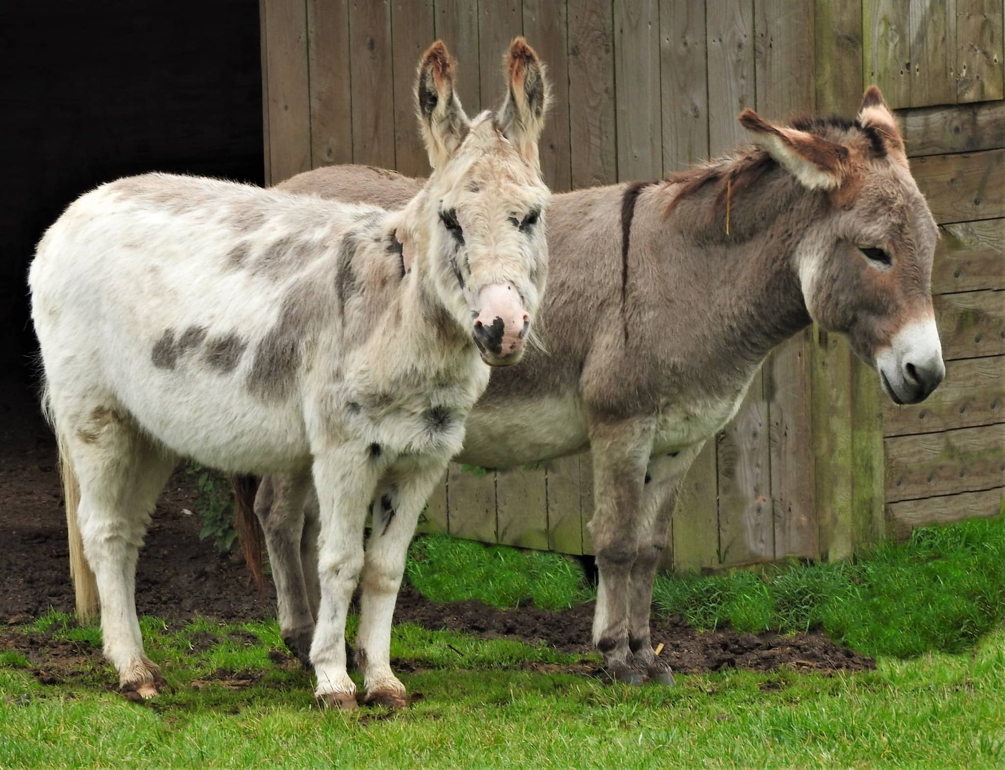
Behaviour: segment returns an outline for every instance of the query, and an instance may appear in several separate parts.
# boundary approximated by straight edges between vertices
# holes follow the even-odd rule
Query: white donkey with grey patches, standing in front
[[[313,477],[316,695],[356,707],[344,636],[361,581],[366,701],[406,703],[389,646],[408,542],[488,381],[479,351],[520,359],[547,274],[548,87],[522,38],[507,62],[502,110],[469,120],[446,47],[425,52],[416,98],[433,173],[400,212],[156,174],[87,193],[42,238],[29,282],[45,407],[123,690],[163,684],[143,651],[136,561],[190,457],[286,474],[301,506]]]

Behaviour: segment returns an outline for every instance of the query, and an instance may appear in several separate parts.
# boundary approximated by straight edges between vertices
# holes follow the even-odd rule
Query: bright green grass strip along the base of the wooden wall
[[[418,538],[408,579],[436,601],[561,609],[593,596],[582,567],[555,553]],[[822,628],[865,655],[910,658],[970,649],[1005,617],[1005,516],[918,529],[855,563],[794,564],[689,577],[660,575],[653,609],[697,628]]]

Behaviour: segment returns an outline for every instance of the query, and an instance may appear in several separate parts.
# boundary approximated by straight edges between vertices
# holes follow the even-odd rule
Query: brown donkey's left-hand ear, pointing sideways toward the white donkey
[[[847,176],[848,149],[808,132],[765,120],[753,109],[740,122],[755,141],[809,190],[834,190]]]

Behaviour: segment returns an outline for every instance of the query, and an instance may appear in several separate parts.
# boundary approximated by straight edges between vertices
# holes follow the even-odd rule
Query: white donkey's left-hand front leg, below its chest
[[[318,678],[316,698],[343,711],[356,708],[356,685],[346,671],[346,615],[363,570],[363,528],[382,471],[367,448],[350,445],[315,455],[321,609],[311,663]]]

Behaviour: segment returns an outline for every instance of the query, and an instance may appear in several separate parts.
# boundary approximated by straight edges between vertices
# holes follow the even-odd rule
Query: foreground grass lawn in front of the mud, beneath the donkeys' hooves
[[[88,644],[94,629],[36,623]],[[605,686],[529,662],[577,660],[519,643],[396,628],[408,711],[321,712],[307,674],[268,659],[274,623],[167,628],[144,618],[174,691],[154,706],[112,692],[104,664],[42,686],[0,666],[0,767],[1000,767],[1005,763],[1005,632],[973,654],[880,659],[855,675],[681,676],[673,689]],[[192,651],[200,631],[219,643]],[[236,637],[231,633],[237,633]],[[248,635],[257,641],[249,641]],[[263,671],[228,690],[213,673]],[[193,682],[200,689],[193,687]],[[208,684],[207,684],[208,682]],[[27,696],[27,697],[25,697]]]

